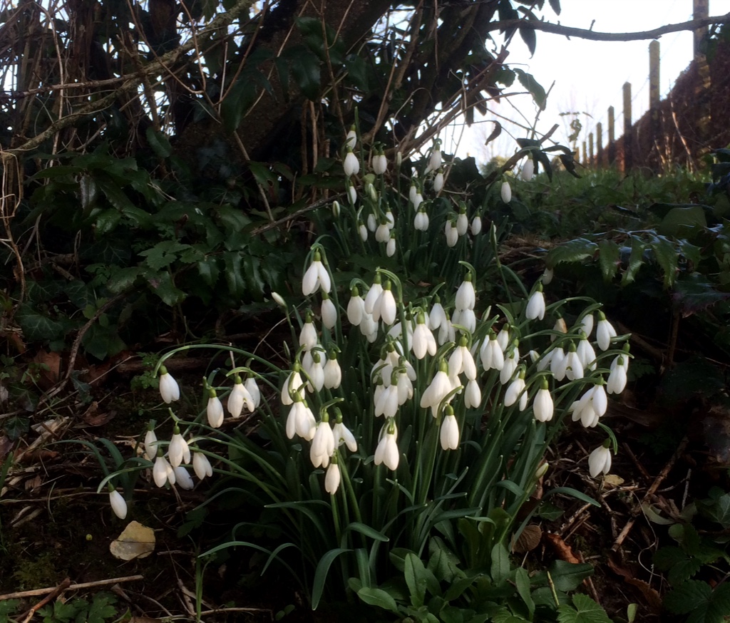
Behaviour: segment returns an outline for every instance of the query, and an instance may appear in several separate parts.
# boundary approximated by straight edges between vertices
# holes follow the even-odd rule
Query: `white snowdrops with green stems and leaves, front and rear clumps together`
[[[407,197],[388,185],[393,163],[383,150],[358,178],[366,162],[355,147],[348,135],[349,216],[335,204],[330,226],[383,266],[343,276],[337,267],[351,248],[328,249],[329,236],[312,244],[301,297],[272,294],[291,328],[283,368],[230,346],[162,357],[160,391],[170,404],[180,389],[164,362],[181,350],[226,350],[245,365],[205,379],[195,421],[181,422],[171,409],[169,441],[150,427],[137,464],[151,469],[158,487],[194,486],[191,468],[199,479],[224,473],[234,483],[228,491],[268,508],[269,520],[277,511],[281,536],[271,548],[234,538],[207,554],[264,551],[266,566],[286,565],[313,606],[326,590],[377,586],[391,573],[390,552],[423,554],[434,534],[460,551],[458,520],[491,523],[492,545],[515,538],[529,519],[518,522],[520,508],[549,469],[548,444],[571,421],[605,430],[586,468],[594,477],[608,473],[615,439],[601,419],[629,365],[625,336],[597,303],[552,301],[550,273],[528,289],[499,263],[496,228],[482,231],[480,210],[458,201],[438,218],[429,214],[432,199],[423,193],[444,188],[438,143]],[[453,257],[415,284],[399,266],[424,239]],[[490,266],[475,266],[480,245],[491,248]],[[484,294],[495,279],[504,301]],[[235,430],[247,412],[258,418],[258,435]],[[125,516],[123,496],[111,495]]]

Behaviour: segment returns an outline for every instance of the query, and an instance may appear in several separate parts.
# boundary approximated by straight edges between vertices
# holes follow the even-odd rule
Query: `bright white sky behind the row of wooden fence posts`
[[[565,26],[591,28],[602,32],[646,31],[667,23],[691,20],[692,0],[561,0],[559,17],[545,2],[545,19],[560,22]],[[730,12],[730,0],[710,0],[710,15],[724,15]],[[660,87],[664,98],[671,90],[677,76],[684,71],[692,59],[693,36],[691,32],[665,34],[660,44]],[[561,128],[553,138],[566,144],[569,131],[564,131],[569,123],[568,117],[561,112],[580,112],[583,132],[578,144],[593,131],[597,122],[604,127],[604,144],[607,133],[607,109],[613,106],[616,118],[617,137],[623,133],[623,83],[631,82],[632,116],[639,119],[649,106],[649,41],[636,42],[596,42],[585,39],[566,39],[565,36],[537,31],[537,51],[534,58],[522,39],[515,34],[510,44],[507,63],[533,74],[545,87],[555,82],[548,98],[548,107],[539,117],[537,130],[545,133],[555,123]],[[515,81],[512,90],[520,89]],[[522,123],[531,125],[537,108],[529,96],[512,98],[523,115]],[[517,120],[519,113],[506,102],[490,104],[490,109],[499,115]],[[479,115],[477,114],[477,118]],[[487,119],[490,116],[486,117]],[[474,155],[477,160],[485,161],[499,153],[511,155],[515,143],[506,135],[507,124],[498,142],[483,147],[485,136],[491,133],[492,123],[475,123],[472,131],[465,132],[458,148],[458,155]],[[458,133],[456,134],[458,136]],[[526,136],[525,131],[515,129],[515,136]],[[444,149],[450,152],[453,143],[445,141]]]

